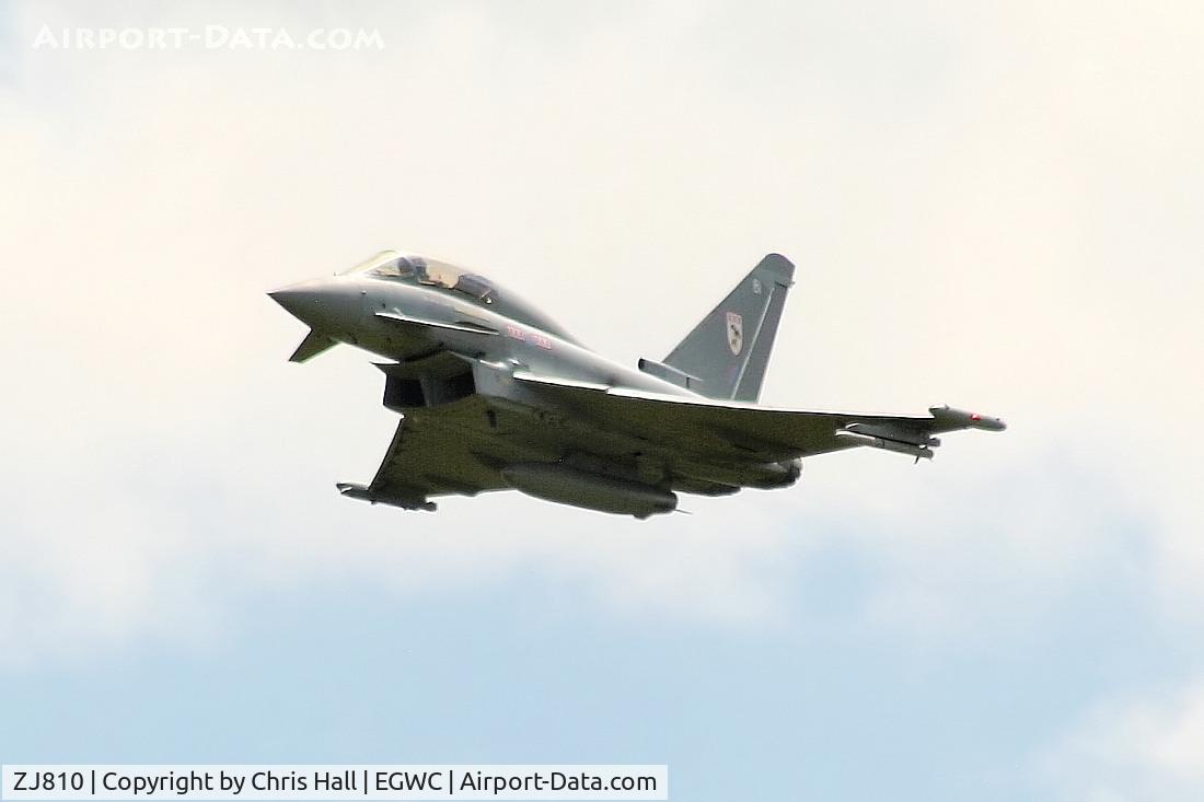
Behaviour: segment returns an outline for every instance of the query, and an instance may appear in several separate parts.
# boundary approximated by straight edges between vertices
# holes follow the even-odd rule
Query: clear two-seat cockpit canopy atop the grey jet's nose
[[[438,259],[418,254],[400,254],[396,250],[382,250],[367,261],[346,272],[364,273],[374,278],[400,281],[407,284],[418,284],[454,293],[473,303],[489,307],[498,314],[527,323],[569,342],[576,342],[567,331],[561,329],[548,316],[514,295],[514,293],[500,288],[495,282],[480,273],[456,267]]]

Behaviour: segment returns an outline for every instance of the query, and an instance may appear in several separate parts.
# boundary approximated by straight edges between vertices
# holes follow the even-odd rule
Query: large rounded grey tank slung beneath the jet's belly
[[[529,496],[585,509],[648,518],[677,509],[677,494],[650,484],[590,473],[560,462],[518,462],[502,477]]]

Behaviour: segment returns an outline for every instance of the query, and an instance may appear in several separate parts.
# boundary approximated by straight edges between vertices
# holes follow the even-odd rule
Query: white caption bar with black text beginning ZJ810
[[[668,766],[4,766],[4,800],[667,800]]]

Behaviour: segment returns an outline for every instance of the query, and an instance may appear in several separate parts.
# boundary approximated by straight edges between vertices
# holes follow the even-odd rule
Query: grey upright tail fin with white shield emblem
[[[769,365],[795,266],[771,253],[736,285],[668,356],[689,387],[712,399],[756,401]]]

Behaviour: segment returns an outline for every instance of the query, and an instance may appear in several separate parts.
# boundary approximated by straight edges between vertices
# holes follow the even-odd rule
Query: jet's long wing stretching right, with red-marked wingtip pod
[[[931,459],[932,449],[940,444],[934,435],[1005,427],[998,418],[944,406],[929,407],[927,415],[783,409],[526,372],[514,378],[608,429],[663,448],[743,462],[815,456],[857,446]]]

